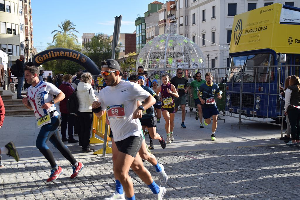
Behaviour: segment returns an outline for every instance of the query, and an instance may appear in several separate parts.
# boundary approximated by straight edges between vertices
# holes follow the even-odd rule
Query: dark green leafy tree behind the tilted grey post
[[[101,67],[102,60],[110,59],[112,57],[111,40],[103,33],[92,37],[91,42],[84,44],[84,49],[85,51],[83,51],[83,53],[91,58],[99,68]],[[118,48],[116,49],[115,57],[119,57]]]

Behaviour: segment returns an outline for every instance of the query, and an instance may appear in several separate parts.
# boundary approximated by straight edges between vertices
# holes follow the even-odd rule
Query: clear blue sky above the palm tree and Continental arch
[[[154,0],[32,0],[33,42],[37,51],[52,43],[53,30],[65,19],[76,25],[81,42],[82,33],[113,35],[115,17],[122,14],[121,33],[133,33],[137,15],[144,16]],[[162,2],[162,1],[160,1]]]

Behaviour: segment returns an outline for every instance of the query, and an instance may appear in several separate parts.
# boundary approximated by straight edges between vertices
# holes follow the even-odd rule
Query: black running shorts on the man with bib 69
[[[116,146],[120,152],[131,155],[132,157],[137,156],[137,152],[139,152],[142,146],[142,142],[142,136],[131,136],[118,142],[115,141]]]

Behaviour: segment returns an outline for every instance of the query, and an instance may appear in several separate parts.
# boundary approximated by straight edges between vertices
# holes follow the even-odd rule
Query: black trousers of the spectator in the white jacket
[[[94,114],[92,112],[85,113],[85,112],[78,112],[79,122],[80,122],[80,142],[82,146],[82,150],[88,149],[88,145],[90,143],[90,136],[91,136],[91,128],[92,122],[94,118]]]

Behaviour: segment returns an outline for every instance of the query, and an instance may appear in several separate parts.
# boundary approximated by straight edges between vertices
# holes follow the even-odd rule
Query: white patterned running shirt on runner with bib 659
[[[41,108],[45,103],[53,100],[53,95],[58,95],[61,90],[55,87],[52,83],[40,81],[35,87],[30,86],[27,89],[27,97],[33,110],[35,111],[35,117],[38,119],[47,113],[56,110],[54,104],[47,110]],[[54,113],[53,116],[57,116],[58,112]],[[52,116],[52,117],[53,117]]]

